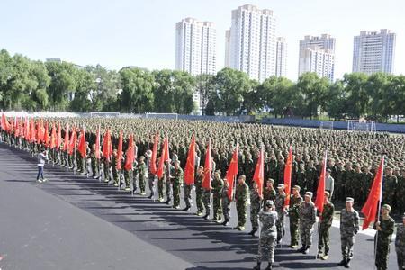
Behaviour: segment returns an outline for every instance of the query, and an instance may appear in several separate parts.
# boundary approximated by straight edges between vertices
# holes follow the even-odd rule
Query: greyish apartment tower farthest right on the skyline
[[[355,36],[353,72],[393,73],[395,40],[395,33],[387,29],[360,31],[360,35]]]

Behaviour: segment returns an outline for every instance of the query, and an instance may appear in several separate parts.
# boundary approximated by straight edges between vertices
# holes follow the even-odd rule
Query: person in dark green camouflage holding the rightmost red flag
[[[384,204],[381,211],[382,217],[380,221],[374,223],[374,229],[377,229],[377,233],[374,237],[374,243],[376,242],[377,244],[375,266],[377,266],[377,270],[387,270],[395,221],[390,217],[390,205]]]

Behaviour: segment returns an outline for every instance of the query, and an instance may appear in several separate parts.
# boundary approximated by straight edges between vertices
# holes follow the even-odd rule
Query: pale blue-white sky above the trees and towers
[[[288,43],[287,77],[294,81],[305,35],[336,38],[335,77],[341,78],[352,71],[354,36],[380,29],[397,34],[394,70],[405,75],[403,0],[0,0],[0,49],[116,70],[174,69],[175,23],[193,17],[215,23],[220,70],[231,10],[243,4],[274,11],[276,35]]]

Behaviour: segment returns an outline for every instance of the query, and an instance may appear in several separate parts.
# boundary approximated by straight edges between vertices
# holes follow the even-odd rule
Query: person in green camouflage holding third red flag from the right
[[[290,236],[291,236],[291,248],[298,247],[298,225],[300,223],[300,212],[299,208],[303,201],[302,196],[300,195],[301,187],[299,185],[293,186],[293,194],[290,196],[290,208],[288,213],[290,216]]]

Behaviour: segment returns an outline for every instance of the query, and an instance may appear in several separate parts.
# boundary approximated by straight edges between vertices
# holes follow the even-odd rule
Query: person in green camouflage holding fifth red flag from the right
[[[237,212],[238,212],[238,226],[235,227],[234,229],[238,230],[244,230],[245,229],[245,223],[247,219],[247,201],[248,201],[248,196],[249,196],[249,187],[245,183],[246,176],[245,175],[239,175],[238,177],[238,185],[236,188],[236,193],[235,193],[235,202],[237,206]]]

